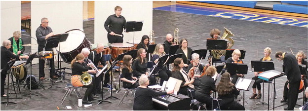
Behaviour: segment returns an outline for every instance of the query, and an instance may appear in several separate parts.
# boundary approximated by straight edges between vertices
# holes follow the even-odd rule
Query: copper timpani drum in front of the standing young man
[[[119,54],[125,53],[133,48],[134,45],[130,43],[113,43],[111,44],[111,55],[113,59],[116,59]]]

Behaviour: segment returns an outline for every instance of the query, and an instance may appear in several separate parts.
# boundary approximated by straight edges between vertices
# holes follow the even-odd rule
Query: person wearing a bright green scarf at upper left
[[[9,50],[13,52],[15,55],[23,55],[25,47],[22,46],[24,44],[24,41],[21,38],[20,31],[15,31],[13,33],[13,37],[8,38],[8,40],[10,40],[12,43],[12,46]]]

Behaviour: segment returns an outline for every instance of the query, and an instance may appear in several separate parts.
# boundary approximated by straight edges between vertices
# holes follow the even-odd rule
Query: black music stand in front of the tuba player
[[[207,50],[226,50],[227,43],[228,43],[227,39],[213,39],[213,38],[206,39]],[[215,66],[216,65],[217,65],[217,59],[215,58]]]

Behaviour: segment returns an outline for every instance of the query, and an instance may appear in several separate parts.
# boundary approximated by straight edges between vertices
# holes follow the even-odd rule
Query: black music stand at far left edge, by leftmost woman
[[[6,71],[6,72],[9,72],[8,74],[7,74],[7,94],[6,94],[6,102],[1,102],[2,104],[5,104],[6,103],[6,105],[5,105],[5,107],[7,107],[7,105],[9,104],[9,103],[12,103],[12,104],[17,104],[17,103],[14,103],[14,102],[9,102],[8,101],[8,99],[9,99],[9,93],[8,93],[8,84],[9,84],[9,75],[10,74],[12,74],[12,71],[11,71],[11,67],[14,65],[14,63],[15,63],[15,61],[16,60],[13,60],[13,61],[9,61],[8,63],[7,63],[7,65],[6,65],[6,67],[4,67],[2,70],[1,70],[1,72],[2,71]],[[2,73],[1,73],[2,74]],[[12,81],[13,82],[13,81]]]

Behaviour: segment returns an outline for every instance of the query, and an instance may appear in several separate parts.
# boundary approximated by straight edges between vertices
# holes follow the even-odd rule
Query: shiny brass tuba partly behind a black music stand
[[[227,49],[231,49],[231,47],[234,44],[234,41],[232,38],[230,38],[231,36],[234,36],[231,31],[229,31],[227,28],[225,28],[225,32],[223,34],[222,37],[220,37],[221,39],[227,39]],[[215,59],[220,59],[220,56],[226,55],[226,50],[212,50],[211,53],[213,54],[213,57]]]

